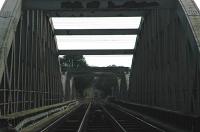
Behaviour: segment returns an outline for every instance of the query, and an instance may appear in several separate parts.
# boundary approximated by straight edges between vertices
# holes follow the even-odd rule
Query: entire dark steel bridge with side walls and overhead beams
[[[50,19],[129,16],[142,17],[139,29],[55,30]],[[57,48],[55,35],[90,34],[138,37],[135,49]],[[193,0],[6,0],[0,11],[0,114],[64,101],[58,55],[131,54],[125,103],[196,119],[200,114],[199,47],[200,11]]]

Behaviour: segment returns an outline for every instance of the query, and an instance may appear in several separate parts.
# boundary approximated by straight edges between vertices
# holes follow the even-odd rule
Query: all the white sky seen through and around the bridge
[[[0,9],[5,0],[0,0]],[[194,0],[200,8],[200,0]],[[54,18],[55,29],[137,29],[140,17]],[[59,49],[133,49],[136,35],[56,36]],[[85,55],[90,66],[131,66],[131,55]]]

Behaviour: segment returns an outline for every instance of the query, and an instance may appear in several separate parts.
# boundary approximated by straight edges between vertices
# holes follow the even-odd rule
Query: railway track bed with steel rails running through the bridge
[[[83,104],[43,130],[48,132],[164,132],[110,105]]]

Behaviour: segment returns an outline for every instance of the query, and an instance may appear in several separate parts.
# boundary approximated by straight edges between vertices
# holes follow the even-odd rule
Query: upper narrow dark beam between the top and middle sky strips
[[[55,35],[136,35],[138,29],[56,29]]]

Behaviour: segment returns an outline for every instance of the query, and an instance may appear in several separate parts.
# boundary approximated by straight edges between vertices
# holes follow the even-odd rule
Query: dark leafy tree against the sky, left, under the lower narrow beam
[[[88,67],[85,58],[82,55],[65,55],[60,58],[61,70],[66,72],[70,69]]]

